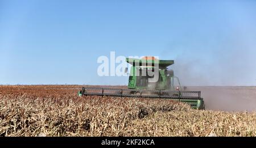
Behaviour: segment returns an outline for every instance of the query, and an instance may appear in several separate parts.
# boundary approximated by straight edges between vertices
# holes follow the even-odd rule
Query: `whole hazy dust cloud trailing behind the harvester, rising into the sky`
[[[181,86],[201,91],[207,109],[256,111],[256,44],[242,37],[229,41],[216,49],[188,47],[169,69]]]

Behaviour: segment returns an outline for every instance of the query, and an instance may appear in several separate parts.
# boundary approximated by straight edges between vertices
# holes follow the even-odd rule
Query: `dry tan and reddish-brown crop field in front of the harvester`
[[[0,136],[256,136],[256,113],[172,100],[77,96],[81,86],[0,86]]]

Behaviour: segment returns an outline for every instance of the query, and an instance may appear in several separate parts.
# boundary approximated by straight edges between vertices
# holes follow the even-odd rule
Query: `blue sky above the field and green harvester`
[[[183,85],[256,85],[256,1],[0,0],[0,84],[127,84],[97,58],[159,56]]]

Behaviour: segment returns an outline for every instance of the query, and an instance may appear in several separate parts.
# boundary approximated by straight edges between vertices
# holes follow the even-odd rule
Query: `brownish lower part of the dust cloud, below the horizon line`
[[[189,86],[201,91],[206,109],[214,111],[256,111],[256,86]]]

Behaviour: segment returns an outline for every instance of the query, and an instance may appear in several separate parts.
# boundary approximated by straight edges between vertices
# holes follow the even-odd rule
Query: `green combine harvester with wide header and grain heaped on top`
[[[201,92],[182,90],[179,78],[174,76],[173,70],[168,70],[167,67],[174,64],[173,60],[144,57],[142,59],[126,58],[126,62],[132,65],[127,88],[82,87],[79,96],[171,99],[188,103],[195,109],[205,109]]]

